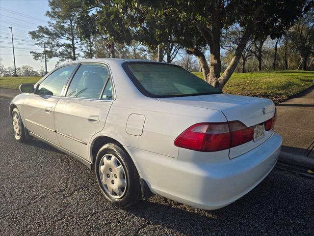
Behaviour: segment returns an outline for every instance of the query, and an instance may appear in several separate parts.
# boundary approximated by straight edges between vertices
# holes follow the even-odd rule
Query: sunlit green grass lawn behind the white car
[[[203,79],[202,72],[193,72]],[[35,84],[41,77],[0,77],[0,88],[18,89],[20,84]],[[235,73],[223,91],[281,102],[313,86],[314,71],[278,70]]]

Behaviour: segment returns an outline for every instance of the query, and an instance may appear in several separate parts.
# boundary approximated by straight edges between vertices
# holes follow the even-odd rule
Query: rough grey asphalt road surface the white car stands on
[[[0,98],[2,236],[314,235],[314,180],[278,169],[218,210],[160,196],[129,210],[113,207],[83,164],[38,140],[16,142],[8,105]]]

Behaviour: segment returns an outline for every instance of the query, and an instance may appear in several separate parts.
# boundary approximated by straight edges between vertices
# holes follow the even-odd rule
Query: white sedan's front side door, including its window
[[[59,142],[53,121],[54,108],[76,66],[67,65],[53,71],[39,84],[35,94],[27,95],[24,101],[27,129],[56,145]]]

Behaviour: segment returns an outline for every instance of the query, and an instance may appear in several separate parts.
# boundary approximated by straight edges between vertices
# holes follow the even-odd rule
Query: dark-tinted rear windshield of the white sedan
[[[218,89],[177,65],[158,62],[125,62],[123,68],[137,89],[149,97],[220,93]]]

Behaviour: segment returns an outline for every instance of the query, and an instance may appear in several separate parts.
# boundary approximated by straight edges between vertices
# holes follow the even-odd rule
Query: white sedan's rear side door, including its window
[[[91,162],[88,144],[104,128],[114,96],[108,67],[82,63],[67,87],[54,111],[56,134],[62,148]]]

